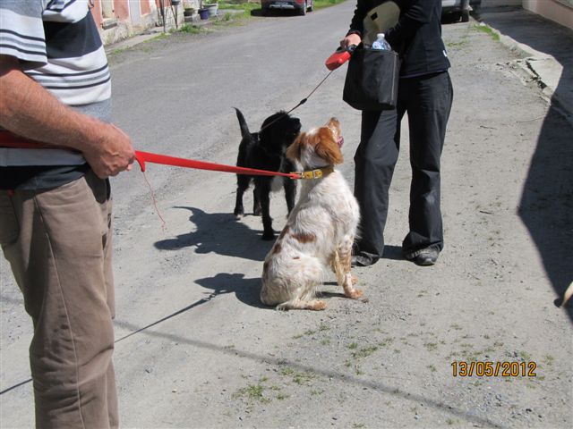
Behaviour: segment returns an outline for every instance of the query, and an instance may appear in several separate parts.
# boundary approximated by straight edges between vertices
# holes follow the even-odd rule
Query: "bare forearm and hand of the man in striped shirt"
[[[132,142],[122,130],[62,104],[8,55],[0,55],[0,126],[26,139],[80,151],[102,179],[133,164]]]

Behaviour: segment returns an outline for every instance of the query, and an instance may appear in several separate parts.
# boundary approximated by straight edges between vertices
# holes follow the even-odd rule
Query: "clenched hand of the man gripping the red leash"
[[[81,152],[100,179],[131,170],[135,159],[132,140],[115,125],[98,123],[98,138],[82,145]]]

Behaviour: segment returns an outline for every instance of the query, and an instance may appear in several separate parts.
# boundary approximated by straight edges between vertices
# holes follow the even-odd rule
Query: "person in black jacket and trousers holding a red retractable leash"
[[[361,141],[355,154],[361,238],[355,243],[353,265],[372,265],[382,256],[389,186],[398,160],[400,122],[406,112],[412,181],[410,231],[402,242],[402,254],[417,265],[433,265],[443,248],[440,156],[453,97],[450,64],[441,39],[441,2],[358,0],[350,30],[340,45],[359,45],[366,38],[364,18],[383,3],[399,8],[398,22],[385,30],[386,39],[401,59],[398,106],[362,114]]]

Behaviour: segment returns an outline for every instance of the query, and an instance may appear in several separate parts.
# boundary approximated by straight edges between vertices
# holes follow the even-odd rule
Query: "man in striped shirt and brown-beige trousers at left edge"
[[[107,178],[134,152],[110,108],[88,0],[0,0],[0,244],[34,324],[38,427],[118,425]]]

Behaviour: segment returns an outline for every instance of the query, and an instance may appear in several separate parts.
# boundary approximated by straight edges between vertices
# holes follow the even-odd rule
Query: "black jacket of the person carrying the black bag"
[[[358,0],[347,34],[362,37],[363,19],[373,7],[387,0]],[[441,39],[440,0],[393,0],[400,8],[398,23],[386,31],[386,39],[402,60],[401,77],[421,76],[450,67]]]

